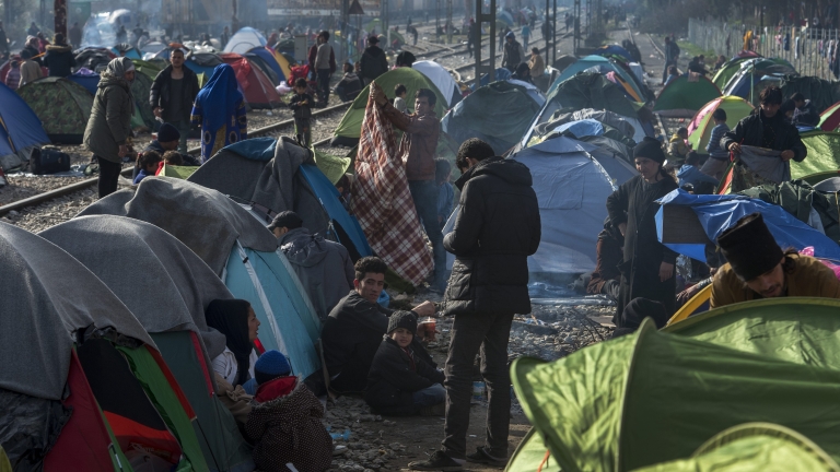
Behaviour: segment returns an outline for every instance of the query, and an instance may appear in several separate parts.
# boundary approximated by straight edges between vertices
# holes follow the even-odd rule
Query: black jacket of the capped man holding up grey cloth
[[[765,143],[765,122],[772,129],[774,139],[771,145]],[[749,115],[735,125],[735,128],[723,135],[721,148],[730,149],[730,144],[738,143],[758,148],[770,148],[774,151],[793,151],[793,160],[802,162],[807,157],[808,150],[802,143],[800,130],[789,123],[781,113],[772,118],[765,117],[762,111]]]

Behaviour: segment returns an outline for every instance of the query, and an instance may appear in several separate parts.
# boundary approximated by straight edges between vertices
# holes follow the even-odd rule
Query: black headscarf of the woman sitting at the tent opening
[[[214,299],[205,311],[207,326],[214,328],[225,338],[225,345],[236,357],[237,373],[234,387],[248,379],[250,351],[254,346],[248,337],[248,308],[242,299]]]

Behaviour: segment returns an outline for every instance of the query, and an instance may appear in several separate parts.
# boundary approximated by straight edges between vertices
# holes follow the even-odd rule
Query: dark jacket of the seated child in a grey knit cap
[[[386,337],[373,357],[364,401],[380,414],[415,414],[417,408],[411,394],[443,384],[443,373],[418,356],[412,345],[408,349],[410,357],[396,341]]]

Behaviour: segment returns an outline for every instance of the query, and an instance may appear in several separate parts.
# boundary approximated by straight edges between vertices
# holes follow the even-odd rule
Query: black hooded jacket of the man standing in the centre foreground
[[[444,312],[528,314],[528,256],[541,236],[539,205],[524,164],[481,161],[455,181],[460,211],[443,239],[456,256]]]

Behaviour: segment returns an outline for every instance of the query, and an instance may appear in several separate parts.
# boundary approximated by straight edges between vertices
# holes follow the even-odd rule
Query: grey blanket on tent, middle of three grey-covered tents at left
[[[207,326],[210,302],[233,295],[183,243],[149,223],[122,216],[81,216],[38,234],[90,269],[150,333],[194,331],[207,365],[224,351],[224,334]],[[130,263],[117,263],[130,255]]]

